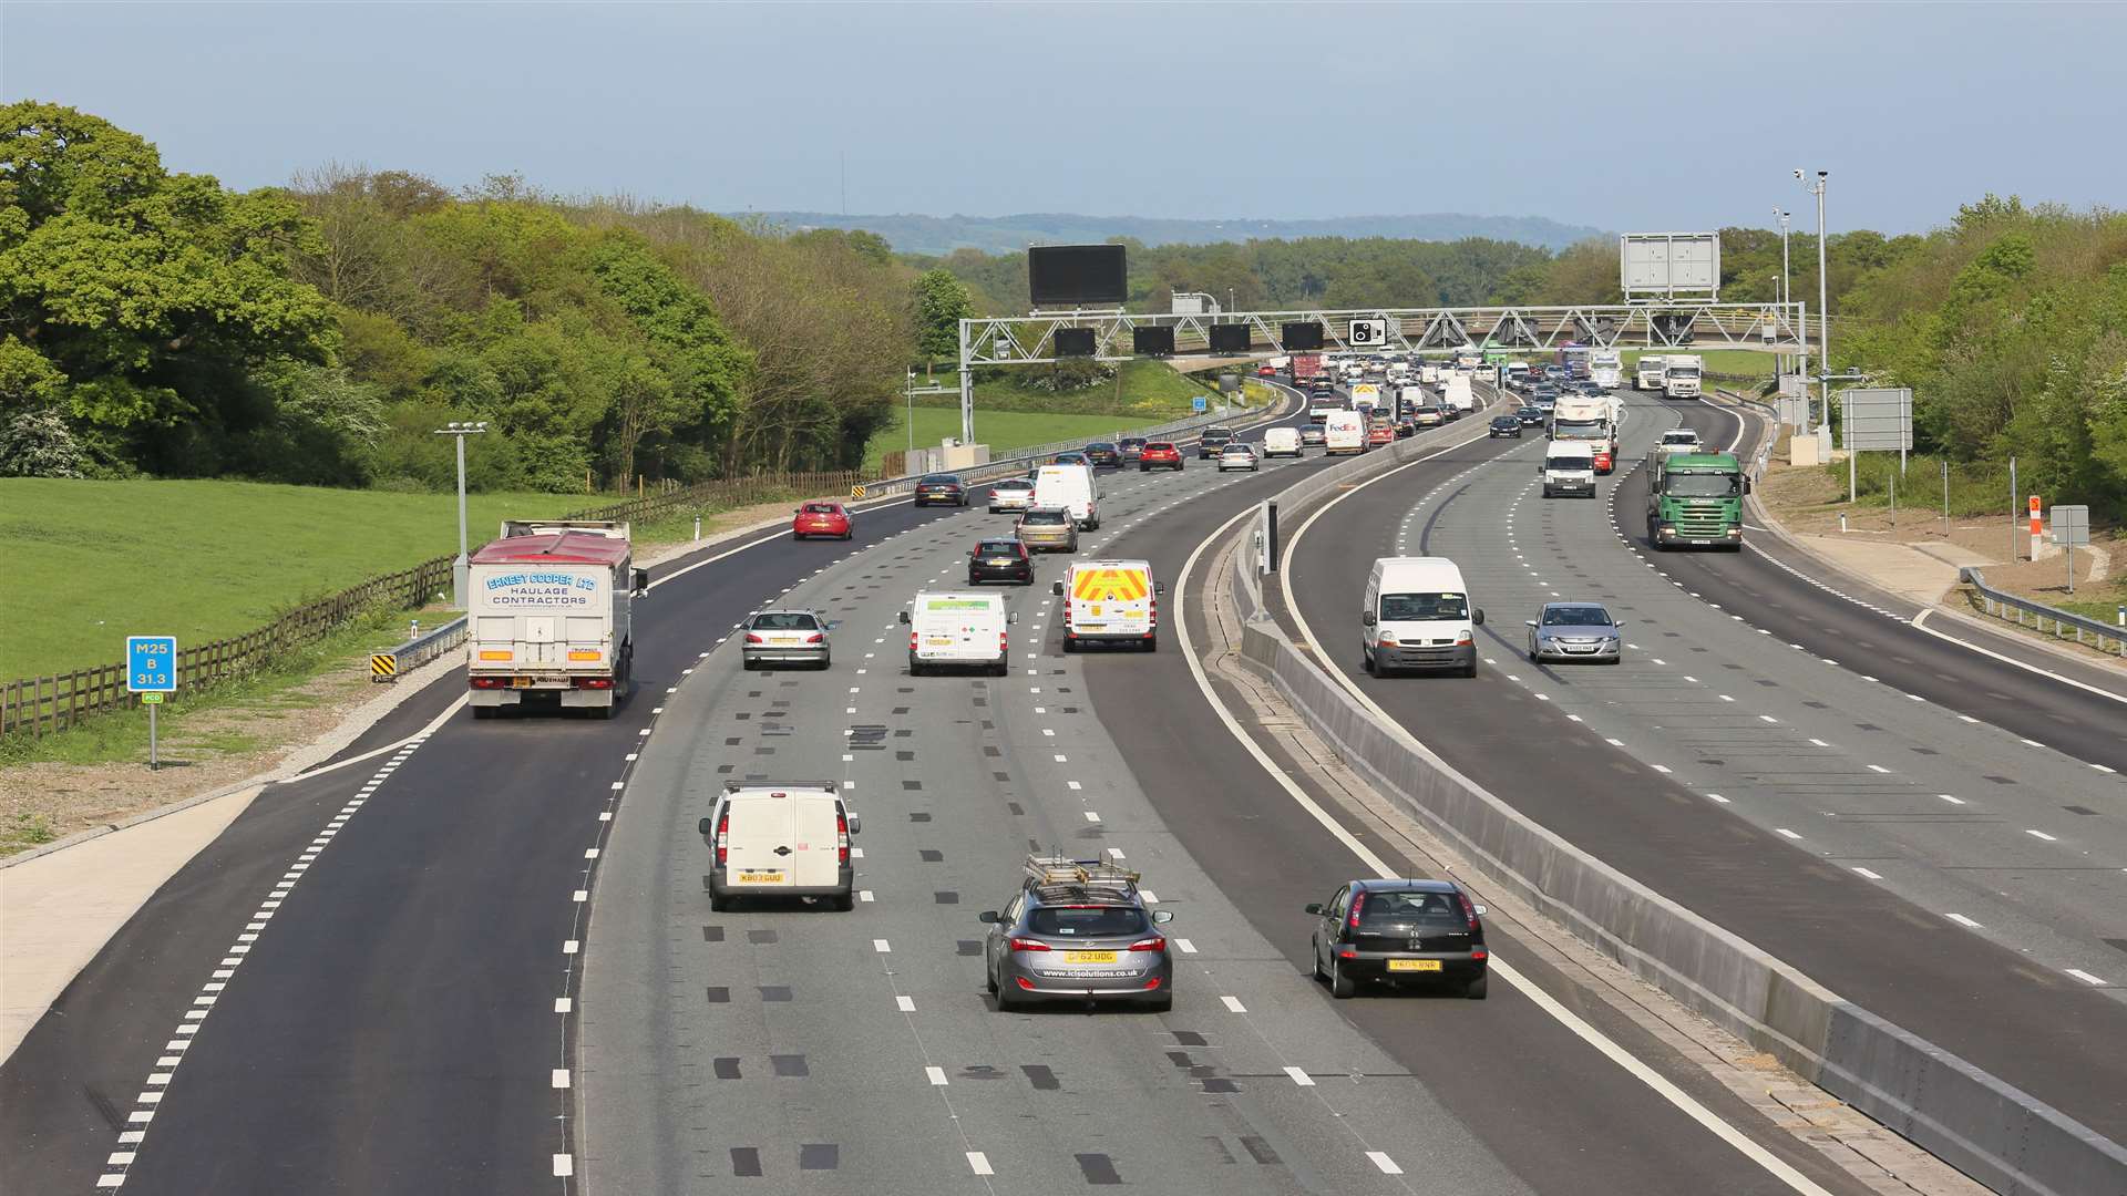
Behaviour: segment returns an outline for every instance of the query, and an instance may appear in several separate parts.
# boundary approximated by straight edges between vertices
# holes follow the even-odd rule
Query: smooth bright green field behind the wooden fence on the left
[[[468,536],[553,517],[581,494],[474,494]],[[457,498],[249,481],[0,481],[0,681],[111,664],[128,634],[179,647],[457,547]]]

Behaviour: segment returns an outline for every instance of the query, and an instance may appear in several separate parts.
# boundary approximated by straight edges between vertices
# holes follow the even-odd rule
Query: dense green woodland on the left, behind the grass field
[[[515,177],[232,192],[74,109],[0,121],[0,472],[440,489],[453,419],[491,489],[853,468],[912,330],[866,232]]]

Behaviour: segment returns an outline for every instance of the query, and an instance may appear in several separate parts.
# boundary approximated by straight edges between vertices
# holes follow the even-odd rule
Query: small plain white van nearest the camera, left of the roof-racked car
[[[857,826],[834,781],[727,783],[698,824],[717,851],[708,909],[725,911],[747,896],[827,898],[851,909],[849,836]]]

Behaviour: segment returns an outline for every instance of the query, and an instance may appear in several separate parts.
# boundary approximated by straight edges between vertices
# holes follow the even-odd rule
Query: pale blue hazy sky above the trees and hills
[[[713,211],[1923,232],[2127,206],[2127,4],[0,4],[0,98]],[[847,198],[844,198],[847,170]]]

